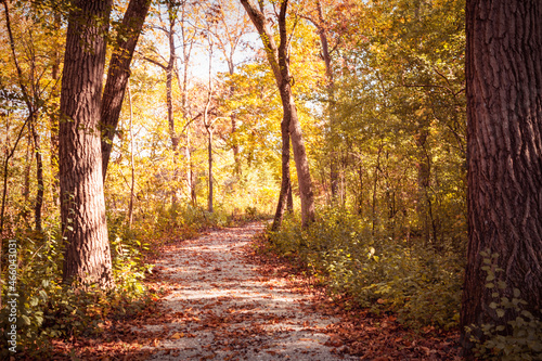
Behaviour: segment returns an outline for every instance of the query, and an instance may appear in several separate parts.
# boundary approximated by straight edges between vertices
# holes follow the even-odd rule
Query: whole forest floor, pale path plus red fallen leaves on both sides
[[[149,280],[163,297],[109,321],[102,339],[55,345],[59,359],[460,360],[456,334],[414,333],[393,315],[349,308],[295,265],[261,255],[262,230],[250,223],[164,246]]]

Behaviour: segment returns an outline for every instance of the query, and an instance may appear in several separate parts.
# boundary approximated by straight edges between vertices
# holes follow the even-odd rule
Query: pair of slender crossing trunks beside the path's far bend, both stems
[[[281,94],[283,105],[283,120],[281,123],[282,132],[282,183],[281,194],[279,196],[279,204],[275,212],[275,220],[273,229],[280,227],[282,215],[286,208],[286,199],[288,192],[291,192],[289,181],[289,140],[294,149],[294,159],[296,163],[297,179],[299,184],[299,193],[301,198],[301,222],[308,225],[314,220],[314,195],[312,191],[312,181],[309,171],[309,163],[307,159],[307,151],[302,137],[297,108],[292,91],[293,77],[289,66],[289,40],[287,28],[287,9],[288,0],[281,1],[278,5],[280,8],[276,14],[276,22],[279,24],[279,39],[280,43],[276,46],[274,34],[271,23],[266,14],[262,2],[256,7],[249,0],[241,0],[248,16],[253,21],[260,39],[263,43],[263,49],[268,57],[268,62],[273,70],[276,86]]]

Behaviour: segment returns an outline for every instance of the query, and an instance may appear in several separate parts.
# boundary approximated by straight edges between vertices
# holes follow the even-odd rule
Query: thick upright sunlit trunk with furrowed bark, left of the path
[[[74,1],[61,89],[60,184],[66,240],[63,279],[113,286],[105,220],[100,105],[112,0]]]

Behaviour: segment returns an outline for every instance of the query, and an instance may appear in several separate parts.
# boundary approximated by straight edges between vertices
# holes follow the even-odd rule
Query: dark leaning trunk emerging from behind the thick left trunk
[[[118,37],[109,61],[101,108],[102,170],[104,180],[113,149],[113,139],[115,138],[118,118],[122,108],[126,85],[130,77],[130,63],[150,7],[151,0],[130,0],[120,28],[122,36]]]

